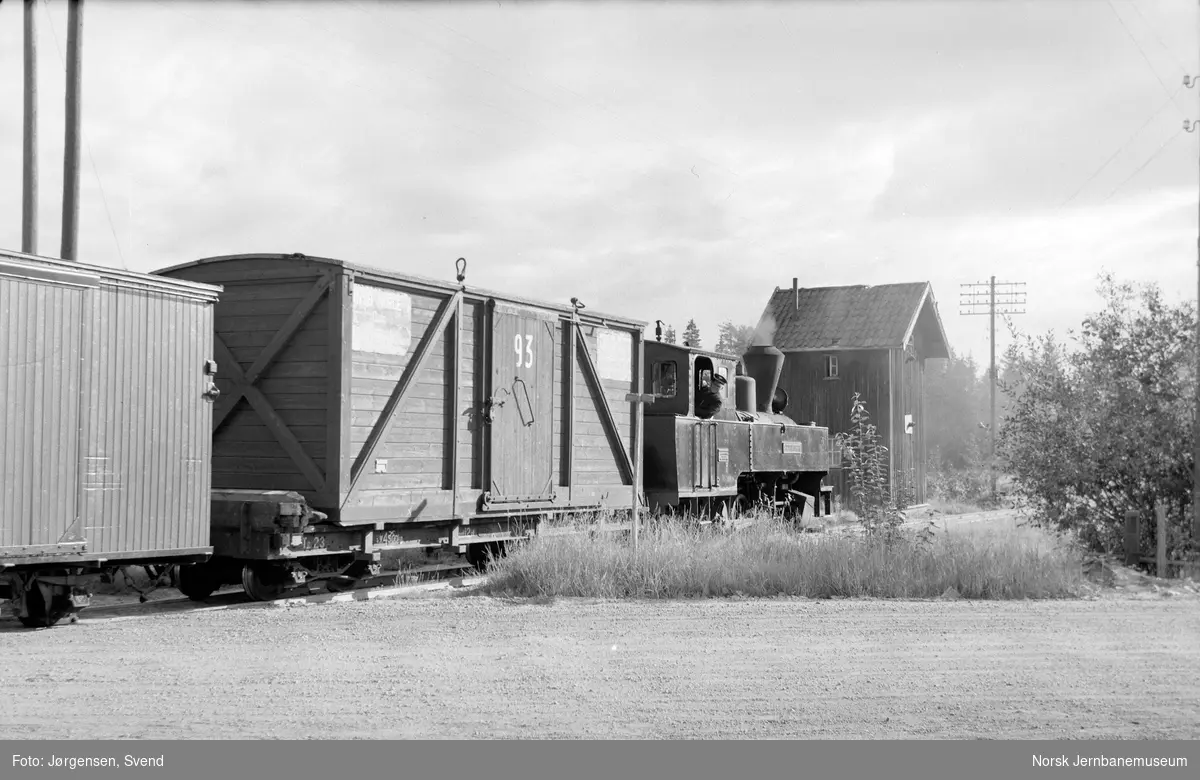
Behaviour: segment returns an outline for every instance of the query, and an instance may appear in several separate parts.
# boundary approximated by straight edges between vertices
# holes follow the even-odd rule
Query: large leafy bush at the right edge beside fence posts
[[[1105,308],[1084,320],[1068,350],[1052,334],[1006,354],[1010,407],[1000,455],[1034,517],[1073,529],[1092,550],[1122,545],[1124,512],[1147,522],[1168,505],[1170,552],[1190,539],[1195,404],[1195,312],[1170,306],[1154,286],[1100,278]]]

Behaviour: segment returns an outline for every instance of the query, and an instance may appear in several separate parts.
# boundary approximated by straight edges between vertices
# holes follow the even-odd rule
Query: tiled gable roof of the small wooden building
[[[763,330],[774,320],[779,349],[901,347],[918,314],[929,308],[936,324],[935,352],[946,349],[937,305],[928,282],[851,287],[802,287],[799,306],[791,288],[776,288],[763,312]],[[941,347],[941,349],[937,349]]]

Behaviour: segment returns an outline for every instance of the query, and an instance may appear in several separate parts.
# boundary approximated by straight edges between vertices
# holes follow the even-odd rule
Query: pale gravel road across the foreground
[[[1200,738],[1200,599],[504,601],[0,628],[0,738]]]

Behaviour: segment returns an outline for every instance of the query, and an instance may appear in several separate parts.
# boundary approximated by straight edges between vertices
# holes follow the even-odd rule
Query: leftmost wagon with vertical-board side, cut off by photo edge
[[[104,566],[211,551],[217,293],[0,252],[0,582],[24,623]]]

